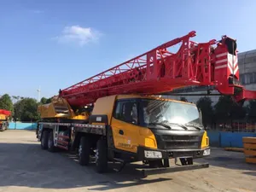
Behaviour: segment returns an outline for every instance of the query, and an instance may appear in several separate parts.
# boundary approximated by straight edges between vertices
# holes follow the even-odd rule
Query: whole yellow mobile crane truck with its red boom
[[[54,96],[38,107],[37,137],[43,149],[75,151],[79,164],[95,158],[97,172],[108,161],[143,161],[145,175],[207,168],[195,158],[210,154],[199,108],[164,95],[189,86],[211,87],[237,102],[255,98],[239,84],[236,40],[223,36],[197,44],[195,32],[161,44]],[[168,49],[181,44],[177,53]],[[169,159],[181,166],[170,166]]]

